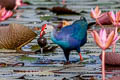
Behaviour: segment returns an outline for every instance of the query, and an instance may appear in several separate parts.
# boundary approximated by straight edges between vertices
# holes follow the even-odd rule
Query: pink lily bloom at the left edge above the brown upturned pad
[[[5,8],[0,10],[0,21],[4,21],[13,15],[12,11],[7,11]]]

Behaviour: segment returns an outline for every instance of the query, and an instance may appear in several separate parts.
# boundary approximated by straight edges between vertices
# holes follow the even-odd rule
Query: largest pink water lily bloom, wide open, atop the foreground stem
[[[107,49],[113,41],[116,41],[116,38],[115,40],[113,40],[114,35],[115,31],[111,31],[111,33],[107,35],[106,30],[104,28],[100,30],[99,34],[95,30],[93,30],[92,32],[92,36],[96,41],[96,44],[104,50]]]

